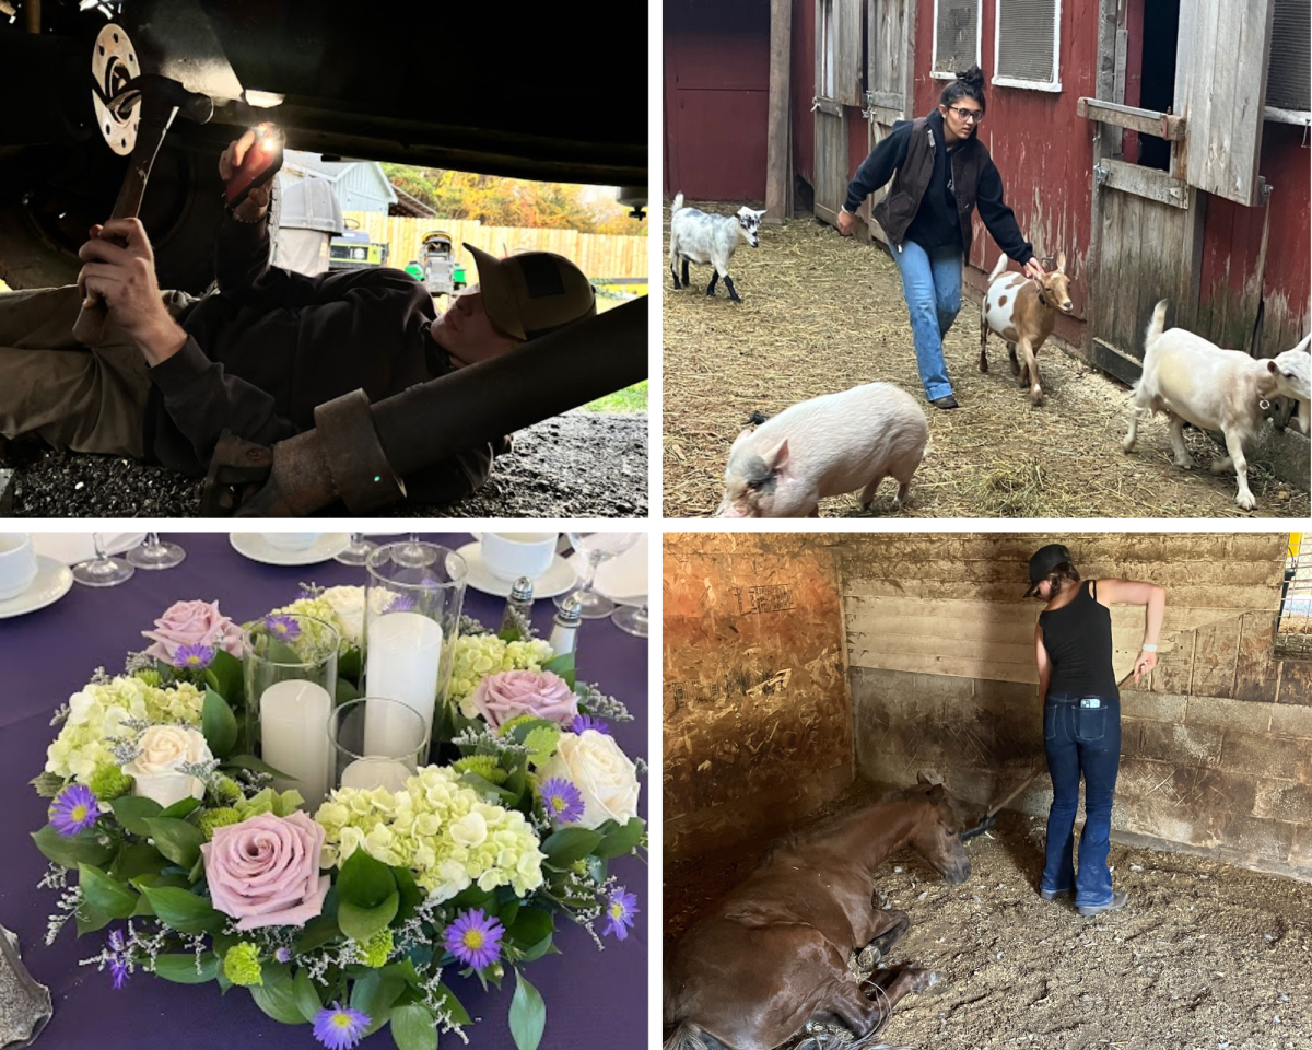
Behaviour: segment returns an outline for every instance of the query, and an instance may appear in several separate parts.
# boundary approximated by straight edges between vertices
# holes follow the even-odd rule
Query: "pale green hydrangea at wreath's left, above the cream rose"
[[[46,751],[46,772],[88,784],[100,766],[117,765],[110,742],[131,735],[123,719],[199,726],[205,693],[185,681],[160,688],[122,675],[91,682],[68,698],[68,718]]]

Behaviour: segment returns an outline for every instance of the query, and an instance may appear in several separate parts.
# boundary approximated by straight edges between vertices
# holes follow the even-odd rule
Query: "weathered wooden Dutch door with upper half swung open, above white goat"
[[[1262,200],[1257,164],[1273,0],[1181,0],[1170,113],[1123,104],[1117,43],[1127,3],[1102,0],[1101,8],[1098,97],[1078,101],[1081,116],[1097,122],[1088,354],[1134,382],[1158,299],[1170,303],[1168,326],[1197,323],[1207,194]],[[1122,160],[1122,129],[1166,139],[1169,169]]]

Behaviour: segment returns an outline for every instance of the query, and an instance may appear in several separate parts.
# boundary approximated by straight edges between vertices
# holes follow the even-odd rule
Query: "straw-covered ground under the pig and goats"
[[[695,203],[695,202],[690,202]],[[726,213],[727,205],[698,205]],[[669,203],[665,243],[669,255]],[[892,260],[878,247],[840,238],[813,219],[765,227],[761,247],[740,245],[723,285],[705,294],[710,266],[691,266],[693,289],[664,282],[664,511],[707,517],[723,492],[729,445],[753,411],[768,416],[795,402],[886,381],[922,398]],[[949,377],[962,407],[925,404],[930,444],[912,480],[907,517],[1307,517],[1307,488],[1249,462],[1256,512],[1235,505],[1233,471],[1212,476],[1224,455],[1206,434],[1186,430],[1194,458],[1170,459],[1165,417],[1120,450],[1130,391],[1052,345],[1039,353],[1044,404],[1031,408],[1008,365],[1006,344],[989,339],[989,371],[979,371],[979,307],[966,302],[946,339]],[[870,514],[884,517],[890,479]],[[824,517],[861,514],[858,494],[821,501]]]

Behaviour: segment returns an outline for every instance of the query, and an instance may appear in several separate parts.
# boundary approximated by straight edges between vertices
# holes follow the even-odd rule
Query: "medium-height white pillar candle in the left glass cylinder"
[[[295,788],[310,812],[324,801],[332,777],[331,713],[328,690],[302,679],[276,682],[260,697],[261,757],[290,777],[274,780],[274,788]]]

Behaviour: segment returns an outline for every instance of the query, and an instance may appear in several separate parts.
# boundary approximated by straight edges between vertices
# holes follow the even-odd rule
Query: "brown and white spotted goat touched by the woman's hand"
[[[997,332],[1006,340],[1012,356],[1012,374],[1023,390],[1030,387],[1030,402],[1043,400],[1043,387],[1039,385],[1039,346],[1043,345],[1057,314],[1075,310],[1071,302],[1071,278],[1065,273],[1065,252],[1057,253],[1057,268],[1043,274],[1040,280],[1023,273],[1008,273],[1006,256],[997,260],[988,276],[988,291],[980,302],[980,371],[988,371],[988,333]],[[1023,361],[1017,361],[1019,346]]]

